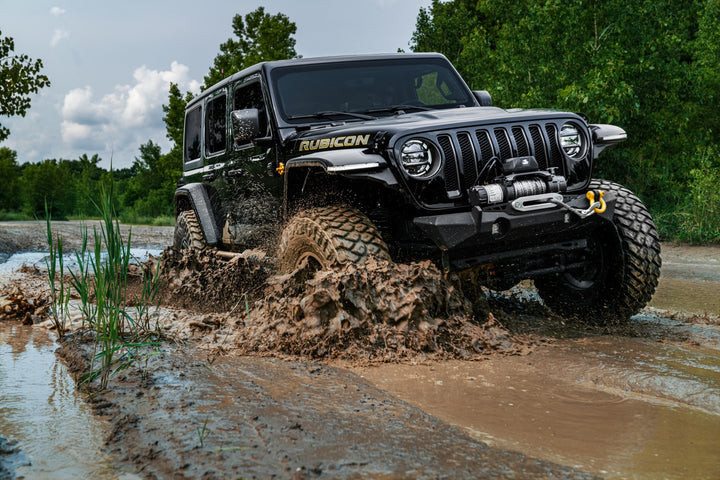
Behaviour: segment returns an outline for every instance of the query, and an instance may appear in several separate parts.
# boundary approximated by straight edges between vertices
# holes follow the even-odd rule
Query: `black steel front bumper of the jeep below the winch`
[[[588,208],[584,194],[564,195],[563,203],[575,210]],[[586,248],[584,231],[610,222],[615,197],[608,192],[606,208],[587,218],[561,206],[531,212],[517,211],[510,203],[470,211],[416,217],[415,226],[442,252],[443,267],[463,270],[488,263],[518,263],[519,259],[564,255]],[[558,263],[558,260],[552,260]],[[530,262],[536,263],[536,262]],[[543,267],[547,269],[547,267]]]

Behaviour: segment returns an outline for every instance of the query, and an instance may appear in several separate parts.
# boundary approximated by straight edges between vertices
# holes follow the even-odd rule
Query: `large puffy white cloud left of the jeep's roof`
[[[67,146],[86,151],[134,150],[152,139],[167,145],[162,121],[170,82],[181,91],[200,90],[187,66],[172,62],[169,70],[146,66],[133,73],[134,83],[116,85],[114,91],[96,97],[90,86],[65,94],[61,107],[61,135]]]

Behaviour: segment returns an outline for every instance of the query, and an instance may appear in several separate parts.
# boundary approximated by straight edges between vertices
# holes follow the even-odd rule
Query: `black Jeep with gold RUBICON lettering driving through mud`
[[[533,279],[561,315],[627,319],[657,286],[658,236],[632,192],[591,178],[625,138],[495,108],[439,54],[261,63],[187,105],[174,243],[272,242],[282,271],[431,259],[495,289]]]

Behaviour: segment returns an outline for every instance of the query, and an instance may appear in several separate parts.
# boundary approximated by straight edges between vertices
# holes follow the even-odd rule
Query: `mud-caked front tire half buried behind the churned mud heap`
[[[346,205],[315,207],[296,214],[280,237],[278,268],[291,272],[304,262],[312,270],[337,264],[364,263],[369,256],[390,260],[373,223]]]

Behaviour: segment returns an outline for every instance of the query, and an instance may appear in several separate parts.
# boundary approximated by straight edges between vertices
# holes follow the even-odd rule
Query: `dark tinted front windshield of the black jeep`
[[[474,105],[471,92],[441,58],[300,64],[271,75],[279,114],[289,123]]]

